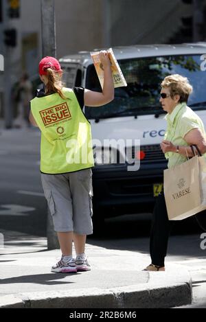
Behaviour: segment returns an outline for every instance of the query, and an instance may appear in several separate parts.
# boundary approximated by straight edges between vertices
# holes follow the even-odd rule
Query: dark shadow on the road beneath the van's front
[[[139,220],[137,216],[111,218],[104,223],[104,231],[100,236],[91,235],[88,244],[106,249],[136,251],[149,254],[150,220]],[[204,259],[206,251],[201,249],[201,233],[194,217],[179,220],[174,225],[168,243],[168,255],[194,257]],[[178,246],[177,246],[178,245]]]

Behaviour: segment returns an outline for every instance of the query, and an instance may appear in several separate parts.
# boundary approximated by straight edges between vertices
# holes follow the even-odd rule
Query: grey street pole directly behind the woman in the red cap
[[[56,24],[54,0],[41,0],[41,27],[43,57],[56,57]],[[52,216],[47,211],[47,249],[59,249]]]

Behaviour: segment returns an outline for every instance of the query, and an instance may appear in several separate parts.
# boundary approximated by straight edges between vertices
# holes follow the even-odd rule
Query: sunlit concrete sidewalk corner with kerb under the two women
[[[171,308],[192,302],[192,280],[181,265],[146,272],[145,253],[106,249],[88,239],[91,271],[51,273],[60,251],[47,240],[1,231],[0,308]]]

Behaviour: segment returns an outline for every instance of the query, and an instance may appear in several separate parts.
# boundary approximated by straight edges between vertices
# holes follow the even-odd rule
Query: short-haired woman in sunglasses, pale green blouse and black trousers
[[[161,150],[168,159],[168,168],[185,162],[187,155],[193,157],[191,145],[196,145],[201,154],[206,152],[203,122],[187,106],[190,93],[192,93],[192,86],[187,78],[181,75],[167,76],[161,83],[159,102],[163,110],[168,113],[165,117],[167,130],[161,142]],[[173,223],[173,220],[168,220],[164,195],[159,194],[153,211],[150,233],[152,263],[144,271],[165,271],[165,256]]]

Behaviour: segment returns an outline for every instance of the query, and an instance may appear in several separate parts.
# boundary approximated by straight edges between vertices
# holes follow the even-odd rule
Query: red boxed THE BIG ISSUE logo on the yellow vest
[[[39,113],[45,126],[62,121],[62,119],[69,119],[71,117],[66,102],[56,106],[45,108],[45,110],[42,110]]]

